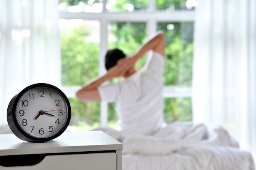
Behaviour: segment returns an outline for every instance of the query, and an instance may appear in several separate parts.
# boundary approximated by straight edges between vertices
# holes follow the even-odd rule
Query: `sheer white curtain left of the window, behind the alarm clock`
[[[0,124],[9,101],[34,83],[60,85],[58,0],[0,0]]]

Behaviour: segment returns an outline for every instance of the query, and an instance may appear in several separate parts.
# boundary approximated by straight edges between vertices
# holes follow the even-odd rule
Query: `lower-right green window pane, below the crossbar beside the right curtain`
[[[165,98],[164,122],[192,121],[191,98]]]

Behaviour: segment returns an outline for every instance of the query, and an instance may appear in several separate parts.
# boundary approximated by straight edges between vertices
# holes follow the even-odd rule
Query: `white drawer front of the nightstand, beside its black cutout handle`
[[[0,170],[116,170],[116,159],[115,152],[47,155],[36,165],[0,166]]]

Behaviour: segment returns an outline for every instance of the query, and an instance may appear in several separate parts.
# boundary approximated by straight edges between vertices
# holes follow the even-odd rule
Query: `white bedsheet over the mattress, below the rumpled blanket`
[[[124,154],[123,170],[254,170],[249,152],[231,147],[201,147],[169,155]]]

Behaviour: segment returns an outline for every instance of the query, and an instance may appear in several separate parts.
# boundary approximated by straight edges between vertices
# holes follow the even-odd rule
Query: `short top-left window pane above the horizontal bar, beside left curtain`
[[[100,13],[103,9],[102,0],[60,0],[59,11]]]

